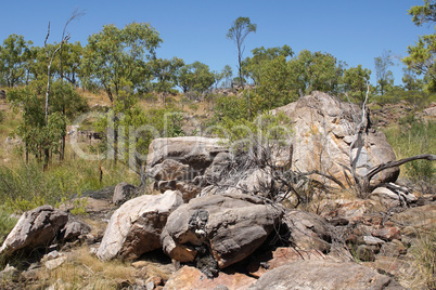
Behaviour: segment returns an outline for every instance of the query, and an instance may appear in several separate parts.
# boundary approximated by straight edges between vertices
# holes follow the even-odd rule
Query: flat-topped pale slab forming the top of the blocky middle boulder
[[[227,151],[219,139],[200,136],[155,139],[149,147],[148,170],[152,172],[152,168],[165,159],[175,159],[190,167],[191,177],[203,175],[214,157],[221,151]]]

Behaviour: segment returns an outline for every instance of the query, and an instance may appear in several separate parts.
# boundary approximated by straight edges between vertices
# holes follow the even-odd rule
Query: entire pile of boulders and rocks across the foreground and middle
[[[294,123],[292,169],[321,170],[345,184],[342,164],[349,162],[359,108],[316,92],[274,111]],[[384,135],[371,129],[356,149],[361,174],[395,159]],[[134,197],[134,186],[116,186],[107,202],[118,208],[105,211],[111,221],[101,241],[88,239],[97,256],[127,263],[162,251],[178,268],[168,280],[150,280],[150,289],[164,282],[164,289],[403,289],[393,277],[408,267],[398,263],[409,259],[416,228],[434,229],[435,201],[416,208],[412,194],[377,189],[369,199],[329,197],[318,214],[291,210],[270,198],[280,186],[272,167],[246,168],[220,186],[223,176],[231,179],[233,158],[217,139],[154,140],[146,172],[157,193]],[[398,169],[386,170],[374,183],[397,175]],[[90,230],[66,212],[40,207],[23,214],[0,253],[80,240]],[[62,256],[54,260],[66,263]]]

